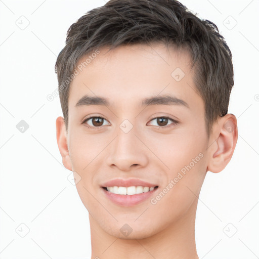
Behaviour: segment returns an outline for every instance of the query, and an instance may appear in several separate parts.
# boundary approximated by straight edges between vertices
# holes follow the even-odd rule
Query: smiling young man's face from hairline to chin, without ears
[[[188,222],[207,171],[207,147],[214,141],[206,132],[188,53],[151,46],[100,49],[73,79],[69,94],[69,156],[63,163],[81,177],[76,188],[90,223],[118,238],[145,238]],[[109,105],[76,106],[85,95],[105,98]],[[142,105],[166,95],[172,101]],[[91,116],[103,119],[82,123]],[[120,204],[103,188],[114,179],[139,179],[158,188],[137,204]]]

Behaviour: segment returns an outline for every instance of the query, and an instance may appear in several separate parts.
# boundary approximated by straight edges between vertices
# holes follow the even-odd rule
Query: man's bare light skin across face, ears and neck
[[[232,157],[236,117],[219,118],[208,136],[188,52],[158,43],[107,51],[100,49],[71,82],[67,132],[63,117],[56,120],[63,164],[81,177],[76,188],[89,211],[91,258],[198,258],[194,230],[199,193],[206,172],[220,172]],[[185,73],[180,81],[171,76],[176,68]],[[85,94],[105,97],[113,106],[75,107]],[[139,105],[144,98],[165,94],[189,107]],[[104,118],[99,129],[93,119],[81,123],[97,115]],[[154,119],[164,116],[178,123]],[[128,133],[119,127],[125,119],[133,125]],[[111,179],[138,178],[159,186],[155,198],[200,153],[202,158],[156,204],[147,199],[123,207],[103,194],[102,184]],[[128,236],[120,232],[124,224],[133,230]]]

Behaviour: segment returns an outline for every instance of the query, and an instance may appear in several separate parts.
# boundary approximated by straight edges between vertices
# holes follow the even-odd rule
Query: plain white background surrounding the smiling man
[[[258,258],[259,1],[181,3],[217,24],[232,51],[235,85],[229,113],[236,115],[239,130],[232,160],[219,174],[207,173],[200,193],[198,255]],[[57,89],[54,66],[67,29],[104,4],[0,1],[1,259],[91,258],[88,211],[67,180],[70,171],[56,142],[55,120],[62,115],[59,97],[48,101],[47,96]],[[23,30],[17,26],[21,19],[23,25],[29,23]],[[24,133],[16,128],[21,120],[29,125]],[[29,233],[21,237],[26,228]]]

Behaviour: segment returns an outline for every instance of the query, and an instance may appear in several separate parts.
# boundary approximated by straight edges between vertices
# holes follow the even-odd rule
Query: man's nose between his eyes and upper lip
[[[121,171],[130,171],[145,167],[148,164],[148,148],[135,135],[133,127],[128,133],[124,133],[120,128],[116,138],[112,141],[108,155],[108,165],[116,167]]]

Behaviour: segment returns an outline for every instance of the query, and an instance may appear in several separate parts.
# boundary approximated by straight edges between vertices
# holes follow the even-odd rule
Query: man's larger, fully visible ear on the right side
[[[226,114],[214,126],[216,134],[213,134],[214,143],[209,147],[208,170],[220,172],[229,163],[236,147],[237,119],[233,114]]]

